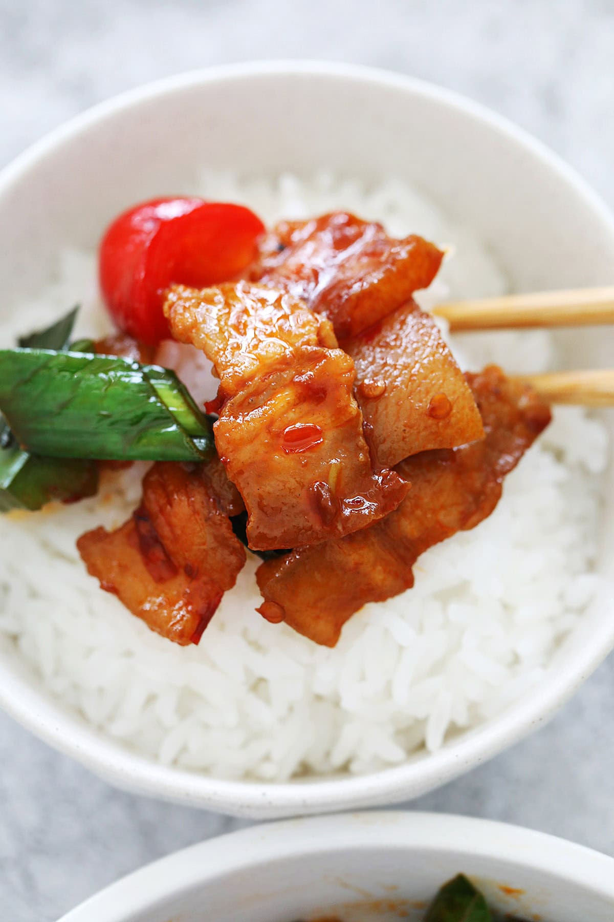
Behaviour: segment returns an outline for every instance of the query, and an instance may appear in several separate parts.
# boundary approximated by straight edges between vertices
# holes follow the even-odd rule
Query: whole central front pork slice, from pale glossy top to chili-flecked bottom
[[[248,511],[253,550],[337,538],[395,509],[408,484],[374,474],[353,361],[329,323],[292,296],[239,282],[171,290],[173,336],[220,377],[215,445]]]

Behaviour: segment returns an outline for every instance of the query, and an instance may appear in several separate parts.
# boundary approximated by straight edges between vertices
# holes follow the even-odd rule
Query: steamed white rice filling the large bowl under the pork
[[[425,306],[448,292],[506,289],[484,246],[403,183],[366,190],[327,174],[310,183],[206,175],[200,192],[243,201],[267,221],[343,207],[382,220],[394,234],[453,243]],[[3,341],[75,301],[85,307],[79,333],[102,332],[95,286],[94,254],[63,254],[57,278],[15,313]],[[498,361],[508,371],[536,372],[556,359],[544,332],[463,337],[453,346],[470,368]],[[185,356],[168,349],[168,361],[184,369]],[[557,410],[506,479],[495,513],[424,554],[414,588],[365,606],[332,650],[254,611],[251,555],[199,647],[157,637],[102,592],[75,539],[132,512],[144,469],[137,465],[106,479],[96,499],[3,517],[0,637],[67,708],[160,762],[269,781],[374,772],[436,750],[543,678],[597,591],[597,475],[607,447],[604,427],[584,410]]]

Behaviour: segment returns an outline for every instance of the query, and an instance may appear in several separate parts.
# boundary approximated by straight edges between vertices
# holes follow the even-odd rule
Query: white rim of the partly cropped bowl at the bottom
[[[476,817],[378,810],[264,823],[207,839],[115,881],[59,922],[128,922],[136,912],[156,909],[162,899],[237,871],[284,857],[374,847],[494,858],[583,887],[614,904],[614,858],[585,845]]]

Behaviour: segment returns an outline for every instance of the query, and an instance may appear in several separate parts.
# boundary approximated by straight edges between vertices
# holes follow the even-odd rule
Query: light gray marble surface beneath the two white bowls
[[[612,0],[0,0],[0,165],[155,77],[251,58],[385,66],[503,112],[614,206]],[[614,660],[512,751],[412,806],[614,855]],[[0,715],[0,918],[52,922],[145,862],[241,825],[113,790]]]

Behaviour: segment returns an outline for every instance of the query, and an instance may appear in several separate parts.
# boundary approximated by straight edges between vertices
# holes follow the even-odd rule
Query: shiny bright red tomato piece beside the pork
[[[100,290],[113,321],[155,346],[169,335],[162,313],[168,286],[235,278],[255,257],[262,231],[249,208],[202,198],[155,198],[124,211],[98,253]]]

